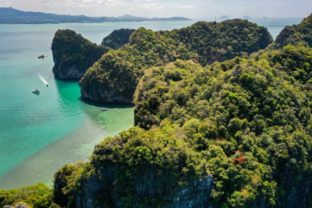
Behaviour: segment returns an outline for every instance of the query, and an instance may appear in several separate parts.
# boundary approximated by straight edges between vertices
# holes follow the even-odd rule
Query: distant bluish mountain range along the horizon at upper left
[[[153,18],[124,15],[119,17],[71,16],[43,12],[24,12],[12,7],[0,7],[0,24],[57,24],[84,22],[142,22],[142,21],[178,21],[191,20],[185,17]]]

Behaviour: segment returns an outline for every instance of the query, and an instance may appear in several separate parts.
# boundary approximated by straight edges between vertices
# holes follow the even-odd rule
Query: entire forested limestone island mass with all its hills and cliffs
[[[247,20],[197,22],[116,30],[96,47],[57,31],[53,57],[72,46],[59,70],[84,44],[105,49],[81,94],[133,102],[135,127],[61,167],[52,190],[1,190],[0,206],[311,207],[311,28],[309,16],[273,41]]]

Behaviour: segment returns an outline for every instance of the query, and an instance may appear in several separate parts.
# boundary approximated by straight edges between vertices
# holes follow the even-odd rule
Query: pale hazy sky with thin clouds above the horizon
[[[312,0],[0,0],[0,7],[89,17],[307,17]]]

